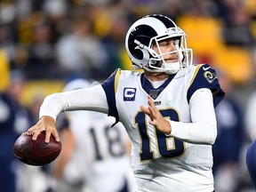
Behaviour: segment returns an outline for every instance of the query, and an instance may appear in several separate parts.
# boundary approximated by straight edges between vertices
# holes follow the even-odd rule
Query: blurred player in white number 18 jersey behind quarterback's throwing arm
[[[90,87],[96,82],[76,79],[64,91]],[[58,117],[60,156],[52,173],[56,192],[130,192],[133,188],[131,144],[123,124],[91,111],[66,112]]]

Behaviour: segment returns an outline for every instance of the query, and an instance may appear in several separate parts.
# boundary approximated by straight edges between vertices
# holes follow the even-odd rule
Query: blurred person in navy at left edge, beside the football
[[[15,192],[17,190],[17,171],[20,161],[12,154],[12,145],[21,132],[32,124],[28,110],[20,103],[20,94],[27,84],[24,73],[13,70],[10,84],[0,92],[0,191]]]

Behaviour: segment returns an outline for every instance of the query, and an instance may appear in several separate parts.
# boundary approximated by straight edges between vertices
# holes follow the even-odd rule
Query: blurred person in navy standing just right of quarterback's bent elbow
[[[239,158],[242,154],[245,138],[244,116],[242,115],[242,108],[233,97],[233,84],[230,79],[223,70],[219,69],[218,75],[226,95],[215,108],[218,135],[212,147],[212,171],[216,191],[234,192],[239,188],[239,176],[241,175]]]

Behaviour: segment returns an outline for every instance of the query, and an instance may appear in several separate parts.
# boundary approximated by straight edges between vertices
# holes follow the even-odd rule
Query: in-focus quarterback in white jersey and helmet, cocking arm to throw
[[[116,69],[100,85],[45,98],[40,120],[28,134],[53,134],[56,116],[93,110],[115,116],[132,141],[136,192],[213,191],[214,107],[224,97],[215,70],[193,65],[186,34],[170,18],[152,14],[135,21],[125,38],[134,69]]]

